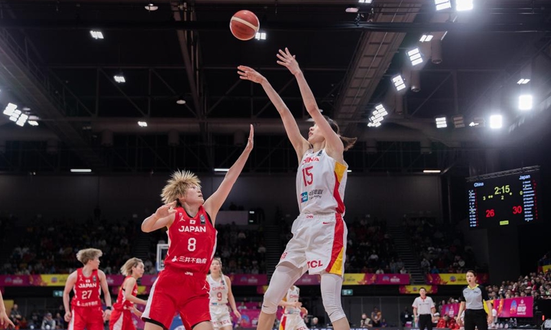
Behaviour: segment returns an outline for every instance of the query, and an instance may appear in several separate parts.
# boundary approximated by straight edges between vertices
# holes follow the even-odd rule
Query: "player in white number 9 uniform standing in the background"
[[[238,318],[241,317],[236,300],[231,293],[231,281],[228,276],[222,274],[222,261],[219,258],[214,258],[211,263],[211,272],[207,275],[209,282],[211,322],[214,329],[231,330],[231,317],[227,303],[231,305],[231,310]]]

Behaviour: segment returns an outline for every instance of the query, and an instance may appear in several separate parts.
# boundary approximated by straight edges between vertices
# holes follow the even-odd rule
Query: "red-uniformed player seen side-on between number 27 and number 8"
[[[113,305],[113,313],[109,319],[109,330],[136,330],[132,322],[132,312],[142,316],[141,311],[134,308],[134,303],[145,305],[145,300],[136,297],[138,295],[138,278],[143,276],[143,262],[138,258],[131,258],[121,267],[121,274],[126,276],[118,291],[116,303]]]

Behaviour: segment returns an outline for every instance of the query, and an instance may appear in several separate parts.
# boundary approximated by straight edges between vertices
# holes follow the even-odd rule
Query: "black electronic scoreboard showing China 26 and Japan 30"
[[[538,222],[539,170],[508,172],[468,179],[470,228]]]

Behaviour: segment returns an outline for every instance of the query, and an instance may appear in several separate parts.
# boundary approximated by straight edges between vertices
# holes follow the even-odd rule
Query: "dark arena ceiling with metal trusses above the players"
[[[346,156],[353,172],[457,166],[519,142],[534,132],[530,121],[544,125],[551,96],[551,3],[475,3],[470,12],[437,12],[428,0],[154,1],[158,10],[148,11],[135,0],[0,1],[0,106],[13,102],[40,118],[21,128],[1,116],[0,171],[210,172],[236,159],[249,123],[256,151],[247,171],[293,170],[277,112],[260,86],[236,74],[243,64],[267,76],[306,131],[297,85],[275,64],[283,47],[296,54],[324,113],[359,137]],[[258,15],[267,40],[231,36],[229,18],[241,9]],[[92,39],[91,29],[105,39]],[[420,43],[422,34],[435,41]],[[406,52],[416,46],[424,63],[411,67]],[[519,87],[526,73],[531,83]],[[400,92],[396,74],[406,80]],[[521,89],[534,94],[529,114],[516,109]],[[368,128],[380,102],[390,114]],[[464,115],[468,124],[497,109],[509,118],[500,133],[434,124],[437,115]]]

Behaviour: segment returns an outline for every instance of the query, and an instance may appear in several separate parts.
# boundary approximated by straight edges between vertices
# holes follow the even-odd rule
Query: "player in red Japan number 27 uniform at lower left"
[[[98,249],[84,249],[76,253],[84,267],[72,272],[67,277],[63,291],[63,306],[65,306],[65,321],[69,322],[68,330],[103,330],[103,321],[111,316],[111,296],[107,287],[105,273],[98,270],[99,257],[103,253]],[[73,290],[74,297],[69,308],[69,294]],[[107,309],[101,310],[100,292]]]

